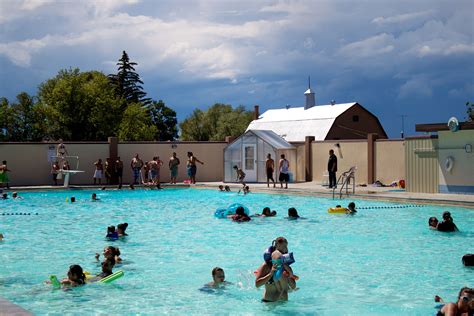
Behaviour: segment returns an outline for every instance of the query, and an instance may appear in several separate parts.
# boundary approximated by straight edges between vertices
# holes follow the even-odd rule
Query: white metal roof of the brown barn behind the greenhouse
[[[357,103],[318,105],[268,110],[258,120],[250,122],[247,131],[273,131],[286,141],[304,141],[306,136],[324,140],[336,118]]]

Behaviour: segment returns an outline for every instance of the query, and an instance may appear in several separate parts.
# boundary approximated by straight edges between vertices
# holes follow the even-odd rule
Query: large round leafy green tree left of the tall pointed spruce
[[[48,131],[65,140],[106,140],[117,133],[121,100],[98,71],[61,70],[38,91]]]

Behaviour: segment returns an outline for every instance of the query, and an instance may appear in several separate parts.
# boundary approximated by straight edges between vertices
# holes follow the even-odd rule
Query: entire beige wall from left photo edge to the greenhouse
[[[55,148],[52,143],[0,143],[0,161],[7,160],[10,185],[51,185],[51,163],[48,161],[48,149]],[[176,148],[172,148],[176,146]],[[130,160],[138,153],[143,161],[148,161],[153,156],[160,156],[165,162],[161,181],[169,181],[168,159],[174,152],[181,160],[178,181],[187,178],[186,160],[187,152],[192,151],[204,165],[198,164],[197,181],[222,181],[224,175],[224,147],[225,142],[149,142],[149,143],[119,143],[118,153],[124,162],[124,182],[132,180]],[[94,162],[101,158],[104,162],[109,157],[108,143],[66,143],[66,148],[71,156],[79,156],[78,173],[71,176],[70,183],[91,184],[94,174]],[[55,149],[53,150],[55,154]],[[76,169],[76,159],[69,159],[71,169]],[[62,183],[60,181],[60,183]],[[102,183],[105,183],[105,178]]]

